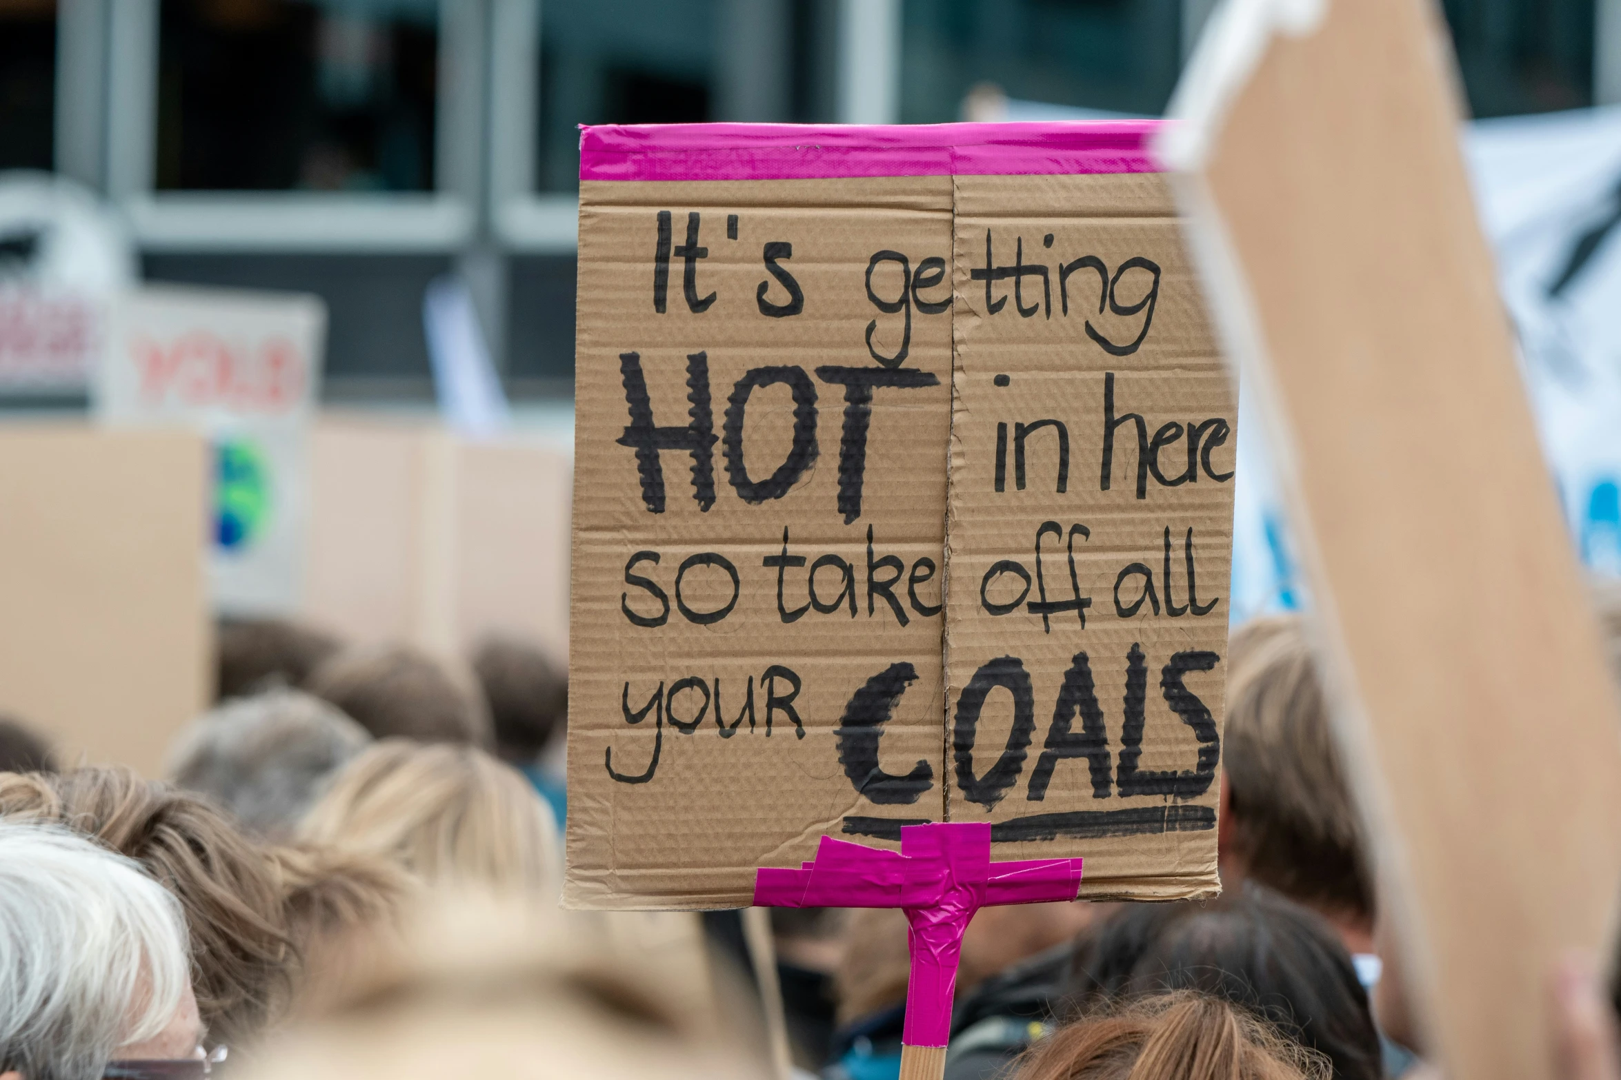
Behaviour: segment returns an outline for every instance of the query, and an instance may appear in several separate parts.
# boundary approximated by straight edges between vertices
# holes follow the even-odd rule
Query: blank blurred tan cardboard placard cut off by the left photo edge
[[[199,436],[0,429],[0,712],[159,776],[212,690]]]

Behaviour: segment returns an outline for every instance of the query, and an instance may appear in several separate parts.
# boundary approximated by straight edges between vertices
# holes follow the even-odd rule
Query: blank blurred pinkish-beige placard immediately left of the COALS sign
[[[327,416],[311,440],[302,614],[360,641],[567,651],[567,455],[519,436]]]

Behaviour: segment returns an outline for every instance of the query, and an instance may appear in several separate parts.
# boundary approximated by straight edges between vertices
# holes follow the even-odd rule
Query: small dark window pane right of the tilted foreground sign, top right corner
[[[1443,0],[1477,117],[1593,104],[1593,0]]]

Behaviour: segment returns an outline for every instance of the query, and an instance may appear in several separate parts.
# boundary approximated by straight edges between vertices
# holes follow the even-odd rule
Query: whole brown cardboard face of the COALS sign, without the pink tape
[[[953,206],[960,215],[955,238]],[[653,300],[660,212],[669,214],[663,313]],[[682,251],[691,248],[691,214],[700,215],[697,246],[705,248],[694,266],[691,300],[704,306],[704,298],[715,295],[704,311],[691,309],[686,288]],[[736,240],[728,238],[729,215],[738,219]],[[1054,267],[1050,319],[1021,319],[1010,300],[997,319],[963,325],[974,311],[974,295],[982,295],[969,270],[982,259],[987,225],[1007,233],[997,264],[1015,261],[1020,232],[1026,233],[1026,264],[1052,264],[1060,253],[1068,261],[1096,254],[1112,275],[1122,259],[1156,261],[1162,282],[1144,345],[1130,356],[1109,358],[1118,368],[1083,353],[1091,340],[1086,304],[1094,329],[1125,334],[1127,342],[1143,322],[1141,314],[1097,316],[1097,275],[1089,269],[1067,282],[1067,319],[1057,308]],[[1062,238],[1050,251],[1042,248],[1047,232]],[[791,259],[780,266],[802,291],[799,314],[772,317],[760,309],[788,301],[786,287],[762,264],[768,243],[791,244]],[[587,181],[580,186],[579,267],[569,904],[736,907],[749,904],[757,868],[810,858],[823,834],[885,845],[906,823],[939,821],[948,811],[952,819],[986,816],[981,805],[956,792],[948,806],[947,793],[964,782],[943,724],[947,620],[934,609],[943,602],[948,468],[953,486],[968,486],[952,508],[953,575],[960,565],[1002,557],[1021,559],[1034,573],[1033,542],[1042,521],[1084,521],[1096,534],[1091,547],[1076,551],[1081,591],[1091,591],[1109,610],[1106,628],[1096,614],[1089,614],[1086,630],[1078,620],[1070,628],[1055,617],[1049,638],[1039,617],[1033,628],[1031,615],[979,614],[979,570],[952,578],[952,662],[966,665],[963,680],[984,659],[1020,649],[1034,680],[1036,742],[992,821],[1094,810],[1084,758],[1054,767],[1042,801],[1026,798],[1026,777],[1049,733],[1059,682],[1078,649],[1097,657],[1097,699],[1112,732],[1109,751],[1120,748],[1127,657],[1140,641],[1153,691],[1140,767],[1195,767],[1191,729],[1161,696],[1162,667],[1177,651],[1221,653],[1225,604],[1200,619],[1144,614],[1133,622],[1115,619],[1110,596],[1114,572],[1131,562],[1153,565],[1156,589],[1162,588],[1161,533],[1167,526],[1177,533],[1175,602],[1187,599],[1182,544],[1190,526],[1196,529],[1200,599],[1224,596],[1230,484],[1201,478],[1196,486],[1156,489],[1146,502],[1136,500],[1131,427],[1122,436],[1130,447],[1122,449],[1117,465],[1117,473],[1131,470],[1131,483],[1117,481],[1120,491],[1102,495],[1096,491],[1104,371],[1118,371],[1118,398],[1148,418],[1149,436],[1167,421],[1222,416],[1230,429],[1235,419],[1157,178]],[[1149,274],[1140,277],[1146,282]],[[903,291],[903,279],[916,290]],[[1041,285],[1028,275],[1020,280],[1028,309],[1033,290],[1041,300]],[[1012,285],[999,280],[997,293],[1012,291]],[[1131,277],[1118,283],[1118,308],[1130,308],[1141,295],[1144,285],[1131,291],[1133,285]],[[963,366],[955,381],[956,421],[964,426],[955,442],[953,321]],[[896,359],[903,342],[908,353]],[[689,359],[700,351],[704,381],[694,379],[699,361]],[[627,359],[627,353],[635,356]],[[840,502],[845,389],[820,369],[887,371],[874,353],[896,364],[896,372],[927,372],[935,382],[874,392],[861,505],[851,513],[854,507]],[[749,390],[746,372],[760,368],[776,371]],[[1010,395],[1007,402],[992,395],[992,372],[1013,374],[1010,390],[997,390]],[[707,455],[691,452],[694,416],[705,415],[702,385],[694,389],[694,382],[707,385],[713,429]],[[645,452],[639,466],[637,439],[652,437],[637,434],[644,384],[652,426],[663,434],[657,458]],[[793,458],[794,384],[801,398],[815,398],[812,408],[801,410],[799,423],[814,423],[817,457],[789,489],[762,495],[751,484]],[[728,411],[741,418],[741,439],[728,439]],[[1013,491],[1010,455],[1007,495],[986,494],[997,421],[1050,416],[1068,424],[1068,494],[1054,502],[1050,427],[1028,439],[1034,478],[1028,491]],[[738,447],[746,474],[731,468]],[[1167,476],[1180,471],[1180,447],[1185,444],[1161,450]],[[653,460],[657,473],[650,473]],[[1232,468],[1230,437],[1211,461],[1221,473]],[[704,463],[713,484],[708,508],[695,499]],[[657,512],[644,492],[644,479],[653,474],[663,491]],[[788,559],[798,563],[781,565],[785,528]],[[704,622],[705,612],[733,596],[731,580],[713,557],[738,573],[736,606]],[[697,619],[686,617],[676,602],[674,583],[687,560],[694,562],[682,576],[681,599]],[[838,599],[845,563],[853,597]],[[1042,568],[1049,589],[1068,589],[1062,541],[1047,542]],[[796,615],[812,599],[806,588],[810,570],[820,606]],[[908,588],[914,575],[916,597]],[[890,583],[905,625],[869,580]],[[668,617],[655,588],[668,597]],[[658,625],[639,625],[650,619]],[[956,620],[963,623],[960,640]],[[799,680],[793,708],[802,735],[781,709],[767,732],[762,680],[770,682],[773,667]],[[1188,690],[1211,706],[1211,724],[1221,716],[1222,677],[1219,665],[1187,677]],[[755,724],[744,719],[733,727],[751,678]],[[770,685],[780,695],[788,691],[781,675]],[[716,696],[725,732],[716,724]],[[984,756],[969,763],[969,785],[1008,742],[1008,701],[1005,691],[987,701],[976,735],[976,753]],[[1080,730],[1080,721],[1075,727]],[[1110,810],[1127,808],[1143,821],[1159,813],[1159,832],[1136,824],[1130,826],[1136,836],[1120,836],[1115,826],[1089,826],[1086,839],[1078,839],[1075,827],[1065,826],[1047,840],[997,844],[995,857],[1096,858],[1096,894],[1203,894],[1216,884],[1214,829],[1187,831],[1183,824],[1165,832],[1164,821],[1200,814],[1208,821],[1214,800],[1214,785],[1169,810],[1159,797],[1114,798]],[[1024,829],[1021,836],[1036,832]],[[1093,866],[1089,861],[1089,879]]]

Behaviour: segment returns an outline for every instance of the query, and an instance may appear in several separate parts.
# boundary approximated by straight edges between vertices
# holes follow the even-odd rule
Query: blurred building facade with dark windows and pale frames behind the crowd
[[[509,393],[567,397],[577,123],[937,123],[987,89],[1153,115],[1211,6],[0,0],[0,168],[102,193],[148,280],[324,296],[329,400],[431,395],[447,270]],[[1621,0],[1439,6],[1475,115],[1621,99]]]

